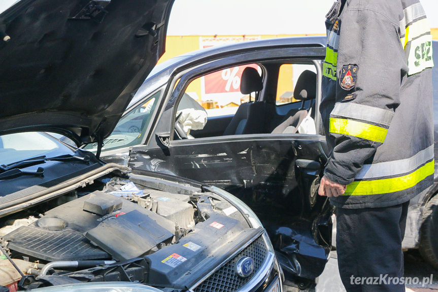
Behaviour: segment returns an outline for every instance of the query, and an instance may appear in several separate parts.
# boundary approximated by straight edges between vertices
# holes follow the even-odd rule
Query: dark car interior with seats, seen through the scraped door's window
[[[242,73],[240,92],[249,95],[249,101],[239,105],[233,115],[209,116],[201,129],[190,132],[190,138],[207,138],[247,134],[312,134],[298,131],[309,116],[315,118],[317,75],[312,62],[302,61],[306,70],[299,73],[293,86],[293,101],[277,104],[277,86],[280,67],[284,62],[258,64],[259,72],[246,67]],[[313,68],[312,68],[313,67]],[[178,125],[176,125],[178,126]],[[315,133],[313,133],[315,134]],[[175,140],[186,139],[175,135]]]

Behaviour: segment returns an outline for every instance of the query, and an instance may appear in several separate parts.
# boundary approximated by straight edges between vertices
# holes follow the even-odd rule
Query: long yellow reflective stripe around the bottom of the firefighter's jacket
[[[344,196],[363,196],[366,194],[382,194],[415,186],[417,183],[433,174],[434,161],[430,161],[411,174],[400,177],[354,181],[347,185]]]

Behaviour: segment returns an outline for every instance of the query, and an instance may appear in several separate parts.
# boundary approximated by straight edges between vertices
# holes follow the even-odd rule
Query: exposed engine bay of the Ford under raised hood
[[[2,218],[0,285],[131,281],[188,289],[260,232],[216,193],[143,177],[106,175]]]

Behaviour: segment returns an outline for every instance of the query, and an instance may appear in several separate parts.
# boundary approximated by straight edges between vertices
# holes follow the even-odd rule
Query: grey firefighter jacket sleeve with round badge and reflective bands
[[[329,121],[335,146],[324,175],[349,184],[385,142],[407,62],[399,25],[381,12],[346,10],[339,25],[336,103]]]

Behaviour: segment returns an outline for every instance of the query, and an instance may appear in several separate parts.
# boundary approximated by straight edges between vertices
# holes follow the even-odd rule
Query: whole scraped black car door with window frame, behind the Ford
[[[129,166],[190,178],[231,192],[262,220],[285,272],[315,278],[324,268],[331,237],[329,204],[326,198],[317,196],[326,161],[322,133],[262,132],[178,139],[175,125],[179,101],[195,78],[230,66],[306,59],[314,63],[318,73],[315,121],[319,128],[320,60],[324,55],[322,47],[259,49],[186,70],[174,77],[170,85],[174,89],[169,93],[152,139],[147,145],[132,147]],[[265,103],[270,112],[279,112],[272,111],[273,105]]]

